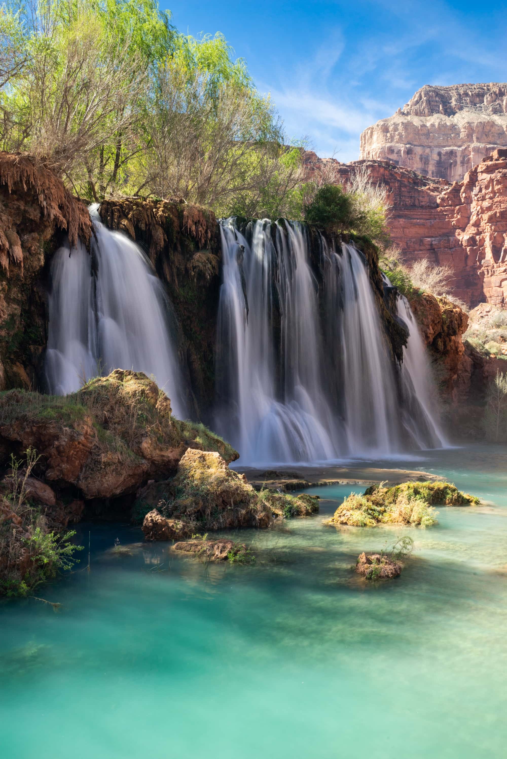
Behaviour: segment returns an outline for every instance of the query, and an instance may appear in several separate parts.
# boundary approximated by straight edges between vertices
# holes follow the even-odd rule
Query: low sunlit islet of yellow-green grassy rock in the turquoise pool
[[[436,524],[434,505],[470,505],[475,496],[461,493],[446,482],[405,482],[393,487],[372,485],[364,495],[350,493],[325,524],[375,527],[375,524],[406,524],[431,527]]]

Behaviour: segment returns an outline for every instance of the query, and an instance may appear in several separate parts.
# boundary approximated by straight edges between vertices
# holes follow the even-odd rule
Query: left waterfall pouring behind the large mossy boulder
[[[65,395],[84,379],[112,369],[154,375],[185,415],[182,383],[163,285],[142,250],[109,231],[90,208],[91,254],[81,243],[63,245],[52,260],[46,379],[50,392]]]

